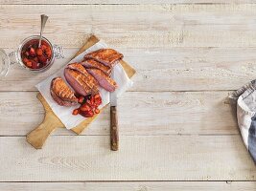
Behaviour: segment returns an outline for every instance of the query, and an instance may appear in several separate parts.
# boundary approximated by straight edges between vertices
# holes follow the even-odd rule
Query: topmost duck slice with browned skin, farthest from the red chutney
[[[113,49],[100,49],[84,55],[85,60],[92,58],[110,68],[113,68],[113,66],[123,57],[124,55],[122,53],[118,53]]]

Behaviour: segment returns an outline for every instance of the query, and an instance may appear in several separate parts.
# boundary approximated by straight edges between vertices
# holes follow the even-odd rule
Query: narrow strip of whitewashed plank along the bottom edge
[[[8,191],[254,191],[255,181],[2,182]]]

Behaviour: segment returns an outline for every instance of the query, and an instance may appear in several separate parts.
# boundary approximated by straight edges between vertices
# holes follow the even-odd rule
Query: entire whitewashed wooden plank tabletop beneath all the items
[[[12,65],[0,81],[0,190],[255,190],[226,99],[256,78],[254,3],[0,0],[0,48],[11,53],[38,33],[46,13],[45,36],[66,53],[46,73]],[[81,136],[58,129],[35,150],[25,140],[44,116],[35,84],[90,33],[137,71],[118,100],[120,151],[109,150],[109,108]]]

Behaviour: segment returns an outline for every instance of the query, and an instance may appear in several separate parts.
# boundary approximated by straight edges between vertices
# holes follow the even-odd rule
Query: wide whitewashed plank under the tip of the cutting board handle
[[[240,136],[109,136],[50,138],[35,150],[24,137],[0,138],[0,181],[255,180]]]

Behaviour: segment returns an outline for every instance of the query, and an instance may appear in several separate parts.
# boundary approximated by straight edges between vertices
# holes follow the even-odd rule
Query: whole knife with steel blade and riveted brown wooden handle
[[[115,72],[112,70],[112,79],[115,78]],[[110,148],[117,151],[119,147],[118,119],[117,119],[117,95],[116,91],[110,93]]]

